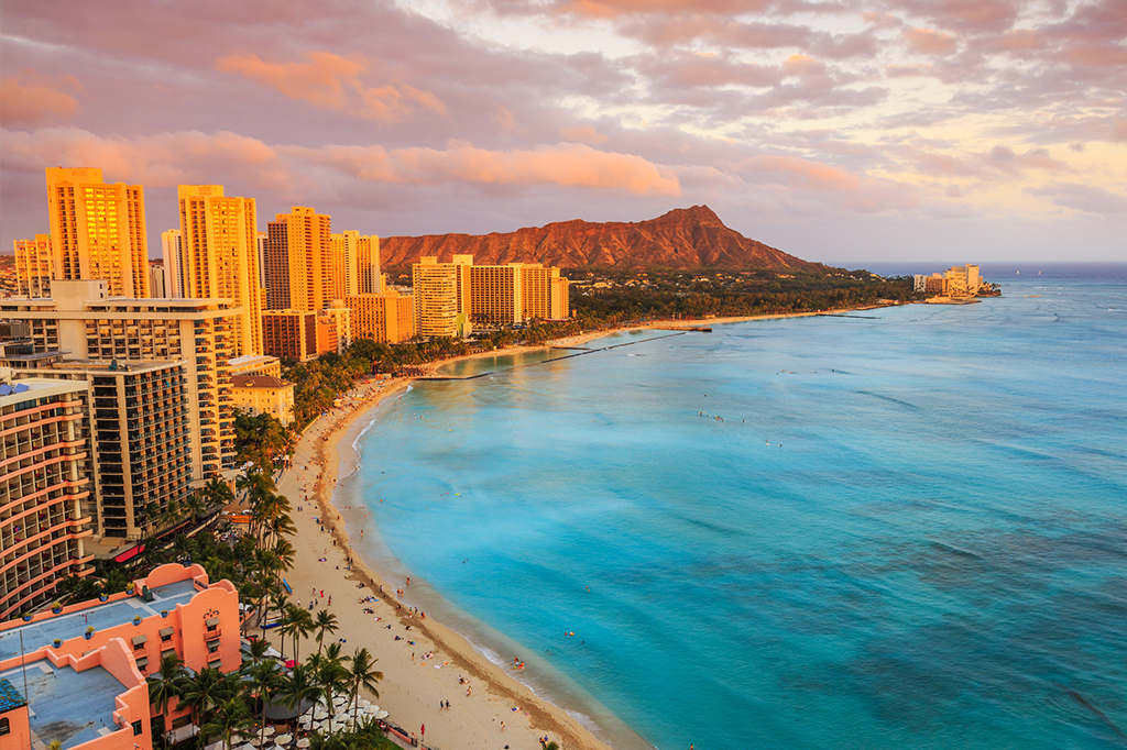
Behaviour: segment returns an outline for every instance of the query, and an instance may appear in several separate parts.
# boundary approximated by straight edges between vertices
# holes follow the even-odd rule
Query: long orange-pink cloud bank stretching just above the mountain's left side
[[[452,141],[445,149],[379,145],[285,146],[284,153],[356,179],[400,185],[556,185],[639,195],[681,195],[668,170],[633,154],[596,151],[579,143],[490,151]]]

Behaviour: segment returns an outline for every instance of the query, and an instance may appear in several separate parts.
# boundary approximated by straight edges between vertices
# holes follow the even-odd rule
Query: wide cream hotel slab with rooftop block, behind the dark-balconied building
[[[187,376],[194,481],[234,463],[229,376],[232,331],[242,311],[228,300],[128,300],[106,295],[105,282],[52,284],[51,300],[0,301],[0,321],[27,323],[36,352],[64,359],[181,361]]]

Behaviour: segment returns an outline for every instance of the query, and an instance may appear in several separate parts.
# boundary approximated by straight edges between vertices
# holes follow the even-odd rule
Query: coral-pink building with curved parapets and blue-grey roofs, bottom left
[[[151,750],[153,732],[175,732],[181,739],[195,733],[187,709],[180,711],[172,703],[167,715],[161,716],[154,715],[154,708],[149,706],[145,677],[159,669],[161,657],[175,652],[194,671],[211,667],[230,672],[242,663],[240,645],[239,595],[234,586],[227,580],[210,583],[202,565],[161,565],[148,578],[137,579],[132,593],[115,593],[106,601],[86,601],[64,607],[59,613],[37,615],[30,620],[0,624],[0,713],[5,705],[2,680],[7,679],[10,688],[30,703],[35,713],[24,731],[35,733],[44,743],[50,743],[56,739],[50,736],[55,731],[55,724],[41,718],[54,715],[50,706],[65,704],[78,696],[113,693],[115,706],[122,704],[128,707],[126,713],[131,731],[122,733],[122,730],[110,726],[117,721],[114,712],[107,713],[83,703],[66,715],[88,722],[98,720],[100,711],[100,727],[109,730],[109,733],[77,744],[65,742],[63,747],[66,750],[133,750],[136,743],[141,750]],[[21,684],[24,660],[28,666],[27,675],[44,672],[48,663],[55,668],[54,676],[44,686],[33,689],[34,686],[28,684],[29,696],[24,694]],[[92,667],[100,667],[101,671],[81,677]],[[59,681],[60,675],[97,685],[98,689],[88,685],[73,696],[69,688],[68,693],[60,693],[66,684]],[[139,695],[143,696],[140,707],[134,707],[135,700],[130,697],[134,689],[140,689]],[[16,707],[2,713],[9,718],[11,727],[23,725],[19,711]],[[82,711],[89,712],[89,715],[82,714]],[[26,716],[26,705],[23,712]],[[114,722],[107,723],[110,715]],[[46,735],[41,735],[37,727]],[[134,730],[136,733],[133,733]],[[118,734],[122,743],[118,744],[117,740],[109,743],[107,738],[117,738]],[[0,738],[0,747],[5,749],[6,739]]]

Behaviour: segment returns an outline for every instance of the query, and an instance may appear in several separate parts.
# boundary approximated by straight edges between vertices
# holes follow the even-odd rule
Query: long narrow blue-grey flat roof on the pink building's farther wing
[[[150,602],[142,601],[141,597],[130,597],[3,631],[0,633],[0,661],[19,655],[20,633],[24,635],[24,649],[32,652],[51,645],[55,639],[68,641],[81,637],[88,625],[94,625],[96,631],[104,631],[131,623],[137,615],[151,617],[160,615],[161,609],[175,609],[176,605],[190,601],[196,595],[196,588],[189,579],[150,589]]]

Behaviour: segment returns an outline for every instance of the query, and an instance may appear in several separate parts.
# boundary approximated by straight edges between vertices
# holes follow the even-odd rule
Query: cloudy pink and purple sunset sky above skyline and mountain
[[[44,168],[364,234],[707,204],[823,262],[1127,260],[1127,0],[3,0],[0,251]],[[939,269],[937,269],[939,270]]]

